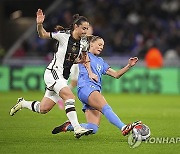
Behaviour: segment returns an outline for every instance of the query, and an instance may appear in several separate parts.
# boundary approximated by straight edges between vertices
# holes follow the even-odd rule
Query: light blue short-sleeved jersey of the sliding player
[[[98,82],[93,81],[89,78],[87,69],[83,64],[79,64],[79,77],[77,87],[83,87],[87,84],[95,84],[101,89],[101,78],[102,75],[106,74],[108,68],[110,67],[101,57],[97,57],[94,54],[88,52],[88,56],[90,59],[91,70],[94,74],[98,76]]]

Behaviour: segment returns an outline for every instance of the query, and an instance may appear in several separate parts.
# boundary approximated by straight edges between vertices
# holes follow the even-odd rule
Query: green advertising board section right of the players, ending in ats
[[[133,68],[120,79],[104,76],[103,91],[179,94],[179,77],[178,68]]]

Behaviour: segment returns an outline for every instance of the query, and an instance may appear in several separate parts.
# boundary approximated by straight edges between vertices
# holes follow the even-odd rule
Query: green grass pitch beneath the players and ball
[[[40,100],[42,92],[0,93],[0,153],[59,153],[59,154],[115,154],[115,153],[179,153],[177,143],[142,143],[130,148],[127,137],[105,117],[96,135],[75,139],[72,132],[52,135],[54,126],[67,120],[65,112],[56,105],[41,115],[23,109],[9,116],[16,99]],[[180,138],[180,96],[156,94],[104,94],[114,112],[125,123],[142,120],[151,129],[152,137]],[[81,103],[76,102],[80,122],[85,122]]]

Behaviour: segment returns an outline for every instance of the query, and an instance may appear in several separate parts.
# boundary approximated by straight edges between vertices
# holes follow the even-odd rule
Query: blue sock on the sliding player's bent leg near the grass
[[[86,129],[93,129],[93,134],[95,134],[98,131],[98,126],[93,123],[81,123],[81,127],[84,127]],[[72,125],[69,125],[67,128],[67,131],[74,131],[74,128]]]

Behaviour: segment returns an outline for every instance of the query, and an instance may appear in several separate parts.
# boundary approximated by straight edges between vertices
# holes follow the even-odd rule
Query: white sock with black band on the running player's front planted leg
[[[74,99],[68,99],[65,101],[65,110],[66,115],[71,122],[74,130],[76,131],[78,128],[80,128],[80,124],[78,122],[77,113],[74,106],[75,100]]]

